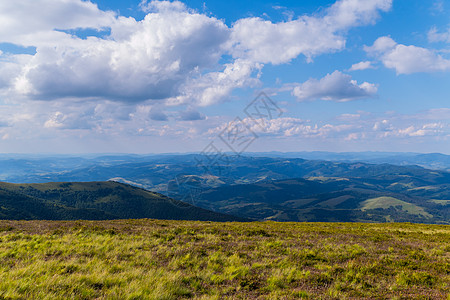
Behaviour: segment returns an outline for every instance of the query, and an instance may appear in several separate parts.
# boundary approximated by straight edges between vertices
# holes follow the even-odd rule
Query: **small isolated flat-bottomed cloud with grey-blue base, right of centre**
[[[375,84],[363,82],[358,84],[350,75],[334,71],[320,80],[309,79],[292,90],[292,94],[299,101],[304,100],[332,100],[351,101],[373,97],[377,92]]]

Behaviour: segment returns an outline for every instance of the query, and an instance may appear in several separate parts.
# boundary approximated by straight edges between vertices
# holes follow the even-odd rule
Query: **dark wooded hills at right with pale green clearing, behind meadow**
[[[195,203],[257,220],[449,224],[448,206],[426,196],[375,180],[310,177],[205,189]]]

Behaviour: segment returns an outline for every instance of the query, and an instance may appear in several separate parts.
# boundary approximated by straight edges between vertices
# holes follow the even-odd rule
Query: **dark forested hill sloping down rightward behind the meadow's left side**
[[[0,219],[243,221],[118,182],[0,183]]]

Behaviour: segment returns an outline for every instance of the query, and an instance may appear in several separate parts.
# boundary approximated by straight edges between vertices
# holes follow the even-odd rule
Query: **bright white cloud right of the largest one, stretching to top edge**
[[[240,19],[232,28],[232,53],[259,63],[287,63],[300,54],[311,60],[344,48],[342,32],[373,23],[379,11],[387,11],[391,5],[391,0],[340,0],[323,17],[301,16],[280,23],[261,18]]]

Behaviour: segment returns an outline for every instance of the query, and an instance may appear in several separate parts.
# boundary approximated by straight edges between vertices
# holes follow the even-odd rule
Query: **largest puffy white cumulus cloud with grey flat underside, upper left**
[[[148,14],[131,27],[133,33],[125,38],[38,47],[23,75],[31,95],[123,101],[177,96],[195,70],[217,64],[228,38],[221,21],[183,11]]]

